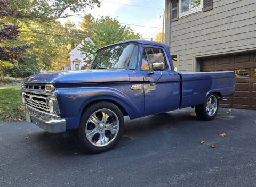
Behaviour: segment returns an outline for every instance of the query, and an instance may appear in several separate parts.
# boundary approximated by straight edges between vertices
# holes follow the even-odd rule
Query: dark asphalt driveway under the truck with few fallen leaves
[[[207,122],[191,108],[126,118],[122,141],[97,155],[73,132],[0,123],[0,186],[256,186],[255,121],[256,111],[227,108]]]

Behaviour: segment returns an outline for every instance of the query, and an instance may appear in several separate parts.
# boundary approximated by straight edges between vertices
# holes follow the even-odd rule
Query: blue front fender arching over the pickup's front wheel
[[[125,109],[130,118],[142,115],[142,112],[128,96],[113,88],[58,88],[56,94],[61,117],[67,121],[67,129],[78,128],[83,109],[89,103],[97,100],[115,101]]]

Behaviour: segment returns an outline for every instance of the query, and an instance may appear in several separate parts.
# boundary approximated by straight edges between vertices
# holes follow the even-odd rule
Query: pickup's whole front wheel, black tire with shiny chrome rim
[[[81,117],[79,138],[88,152],[98,153],[113,148],[124,131],[120,109],[109,102],[99,102],[87,108]]]

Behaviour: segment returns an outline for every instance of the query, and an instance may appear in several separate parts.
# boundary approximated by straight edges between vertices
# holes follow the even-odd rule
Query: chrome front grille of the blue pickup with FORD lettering
[[[47,98],[56,100],[55,95],[47,92],[31,91],[28,89],[21,89],[25,95],[26,107],[34,109],[37,112],[59,117],[58,114],[51,114],[47,105]],[[37,100],[38,99],[38,100]],[[57,102],[57,101],[56,101]]]

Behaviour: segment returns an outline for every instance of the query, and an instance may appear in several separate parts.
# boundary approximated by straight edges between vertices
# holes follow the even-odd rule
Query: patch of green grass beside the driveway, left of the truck
[[[20,88],[0,89],[0,121],[21,120],[18,111],[18,106],[21,104]]]

